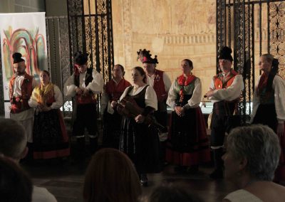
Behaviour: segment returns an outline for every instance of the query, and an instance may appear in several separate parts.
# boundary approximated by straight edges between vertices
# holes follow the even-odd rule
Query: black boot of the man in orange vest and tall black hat
[[[224,178],[224,161],[222,160],[223,149],[213,149],[214,153],[214,171],[209,174],[212,179],[223,179]]]

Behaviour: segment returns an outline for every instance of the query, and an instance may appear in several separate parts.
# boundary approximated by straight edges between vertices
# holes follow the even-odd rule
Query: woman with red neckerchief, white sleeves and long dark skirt
[[[199,164],[210,160],[204,117],[199,107],[202,87],[199,78],[192,75],[192,69],[191,60],[182,60],[182,75],[172,83],[167,98],[173,112],[166,160],[178,165],[176,171],[190,167],[190,171],[196,172]]]

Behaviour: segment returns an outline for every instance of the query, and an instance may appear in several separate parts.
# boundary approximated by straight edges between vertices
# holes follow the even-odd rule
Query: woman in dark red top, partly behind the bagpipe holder
[[[103,112],[103,147],[119,148],[120,124],[122,116],[117,112],[116,102],[120,99],[126,87],[130,86],[124,78],[122,65],[113,68],[113,79],[105,84],[101,98],[101,112]]]

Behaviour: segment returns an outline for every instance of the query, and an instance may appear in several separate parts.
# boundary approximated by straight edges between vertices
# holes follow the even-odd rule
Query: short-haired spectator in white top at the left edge
[[[27,137],[23,125],[14,119],[0,118],[0,153],[19,164],[28,153]],[[20,200],[21,201],[21,200]],[[33,186],[33,202],[56,202],[46,188]]]

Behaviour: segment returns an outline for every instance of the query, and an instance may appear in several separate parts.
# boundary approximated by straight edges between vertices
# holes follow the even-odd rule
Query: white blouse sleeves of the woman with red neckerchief
[[[199,78],[196,78],[194,85],[195,87],[194,87],[193,92],[186,92],[189,95],[192,94],[192,97],[187,102],[187,105],[189,106],[187,106],[186,108],[199,107],[199,103],[201,102],[202,85],[201,85],[201,81],[199,80]],[[177,91],[177,89],[180,89],[180,87],[178,87],[177,80],[175,80],[170,87],[170,90],[168,92],[167,101],[166,101],[166,104],[169,105],[172,108],[172,110],[174,110],[175,108],[175,100],[177,99],[178,96],[180,96],[179,90]]]

